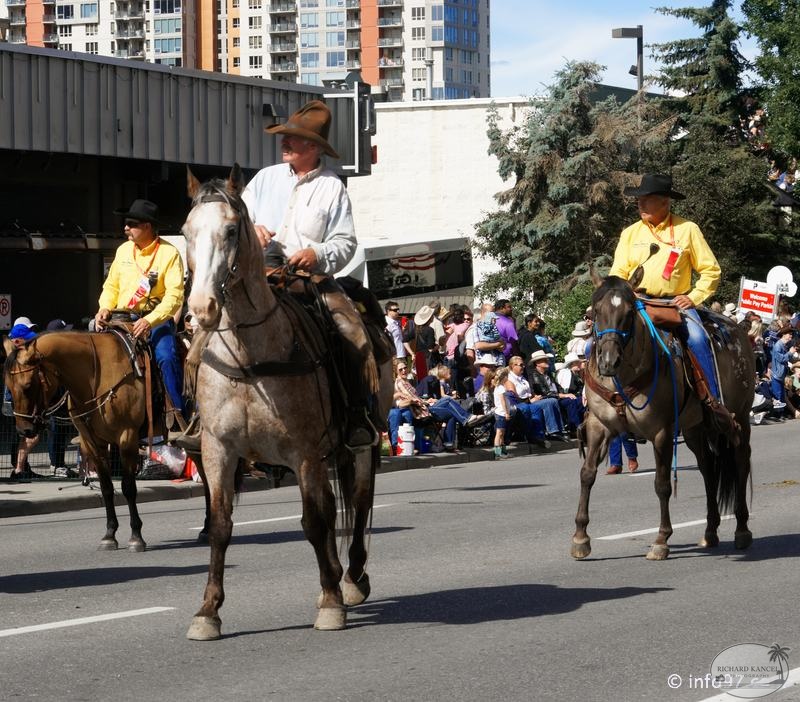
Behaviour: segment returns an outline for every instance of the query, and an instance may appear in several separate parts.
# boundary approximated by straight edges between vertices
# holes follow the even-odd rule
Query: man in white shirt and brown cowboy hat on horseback
[[[242,200],[268,261],[285,259],[297,270],[333,276],[353,257],[356,235],[344,183],[322,165],[323,154],[339,158],[328,143],[330,125],[330,110],[312,100],[286,124],[267,127],[269,133],[282,135],[283,163],[261,169]],[[322,297],[344,339],[348,368],[342,379],[349,405],[345,441],[352,449],[367,448],[379,438],[366,411],[378,390],[372,344],[361,314],[341,288]]]

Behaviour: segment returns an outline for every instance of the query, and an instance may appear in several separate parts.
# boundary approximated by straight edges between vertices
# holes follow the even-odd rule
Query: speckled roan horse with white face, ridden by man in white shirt
[[[264,277],[263,252],[247,209],[239,166],[227,181],[201,185],[189,173],[192,210],[183,227],[193,273],[189,307],[209,332],[197,380],[203,419],[202,462],[210,493],[211,561],[203,604],[188,638],[220,637],[225,552],[231,539],[234,473],[240,458],[291,467],[303,502],[302,525],[314,547],[322,593],[317,629],[342,629],[346,605],[369,595],[364,532],[380,452],[342,450],[342,417],[333,416],[328,359],[305,338]],[[380,369],[382,415],[391,403],[391,368]],[[336,549],[333,463],[352,533],[344,574]],[[348,528],[350,527],[350,528]]]

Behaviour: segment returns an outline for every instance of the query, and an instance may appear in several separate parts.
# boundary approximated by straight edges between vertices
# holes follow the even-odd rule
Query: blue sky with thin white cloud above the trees
[[[741,20],[734,2],[734,17]],[[615,27],[644,34],[644,74],[655,73],[648,44],[699,36],[687,20],[661,15],[654,7],[704,7],[710,0],[491,0],[492,97],[541,95],[567,61],[606,66],[601,82],[636,88],[628,69],[636,63],[636,39],[612,39]],[[752,58],[754,45],[742,53]],[[656,88],[660,92],[660,88]]]

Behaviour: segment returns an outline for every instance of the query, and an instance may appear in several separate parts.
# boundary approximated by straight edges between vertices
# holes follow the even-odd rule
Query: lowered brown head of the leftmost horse
[[[42,366],[42,355],[36,350],[36,340],[15,348],[5,362],[5,384],[11,393],[17,433],[31,438],[45,426],[45,413],[57,389]]]

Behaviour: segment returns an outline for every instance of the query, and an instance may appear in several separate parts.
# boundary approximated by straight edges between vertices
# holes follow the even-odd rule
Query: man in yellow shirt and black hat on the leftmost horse
[[[95,327],[103,329],[112,310],[125,310],[138,319],[133,335],[150,335],[164,387],[181,412],[183,367],[178,359],[173,317],[183,306],[183,261],[170,243],[158,236],[158,207],[149,200],[134,200],[125,217],[125,235],[103,283]]]

